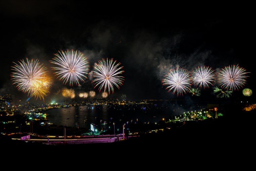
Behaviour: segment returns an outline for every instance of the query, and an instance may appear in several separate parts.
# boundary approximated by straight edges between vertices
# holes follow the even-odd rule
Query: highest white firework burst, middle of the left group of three
[[[59,78],[59,80],[63,81],[63,84],[67,84],[69,82],[70,86],[73,86],[73,83],[79,85],[79,81],[85,81],[87,79],[89,66],[87,65],[88,60],[84,57],[83,53],[77,54],[77,50],[74,51],[67,49],[67,51],[63,52],[61,50],[58,51],[59,54],[54,54],[55,57],[52,58],[50,63],[54,63],[59,67],[52,67],[55,72],[55,76]]]

